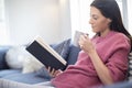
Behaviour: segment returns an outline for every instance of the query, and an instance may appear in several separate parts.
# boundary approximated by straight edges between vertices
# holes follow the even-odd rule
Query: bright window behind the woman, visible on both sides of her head
[[[129,3],[129,7],[127,1]],[[89,16],[90,16],[89,10],[90,10],[91,2],[92,0],[70,0],[72,35],[73,36],[76,30],[87,32],[90,35],[90,37],[94,35],[94,33],[91,32],[90,24],[88,23]],[[129,29],[130,33],[132,34],[132,24],[130,24],[132,23],[132,20],[131,20],[132,11],[130,11],[130,9],[132,8],[131,7],[132,0],[117,0],[117,2],[121,10],[124,26]],[[129,21],[128,21],[128,18],[129,18]]]

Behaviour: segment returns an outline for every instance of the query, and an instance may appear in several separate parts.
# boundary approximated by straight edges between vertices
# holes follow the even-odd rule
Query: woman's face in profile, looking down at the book
[[[95,33],[101,33],[106,30],[110,30],[109,29],[110,22],[111,20],[108,18],[105,18],[97,8],[95,7],[90,8],[89,23],[91,24],[92,31]]]

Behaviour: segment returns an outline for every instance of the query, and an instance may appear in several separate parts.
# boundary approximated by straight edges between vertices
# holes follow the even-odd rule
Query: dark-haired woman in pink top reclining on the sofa
[[[89,88],[96,86],[98,88],[125,79],[128,54],[131,50],[132,38],[123,26],[116,0],[95,0],[90,4],[89,23],[97,34],[91,40],[87,35],[80,36],[79,45],[82,51],[79,53],[77,63],[68,66],[65,72],[50,72],[55,78],[48,82],[47,88],[50,86],[52,88]],[[4,82],[7,81],[4,80]],[[4,82],[2,81],[1,85]],[[13,81],[8,81],[8,84],[10,84],[9,88],[12,84],[16,85]],[[37,86],[37,88],[44,86],[45,84]],[[31,86],[19,84],[18,87]],[[31,88],[35,87],[32,86]]]

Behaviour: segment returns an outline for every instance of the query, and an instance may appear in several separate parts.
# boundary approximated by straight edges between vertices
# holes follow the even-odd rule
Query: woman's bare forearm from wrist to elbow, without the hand
[[[94,51],[92,53],[88,53],[92,64],[95,66],[95,69],[100,78],[100,80],[105,85],[110,85],[113,82],[112,77],[110,76],[110,72],[108,67],[102,63],[101,58],[98,56],[97,52]]]

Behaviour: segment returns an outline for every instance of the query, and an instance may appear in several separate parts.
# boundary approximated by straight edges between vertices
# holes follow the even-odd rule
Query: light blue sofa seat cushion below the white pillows
[[[0,72],[0,75],[1,75],[0,78],[19,81],[19,82],[24,82],[24,84],[38,84],[38,82],[50,80],[44,77],[37,76],[36,73],[21,74],[21,70],[19,70],[19,69],[2,70],[2,72]]]

